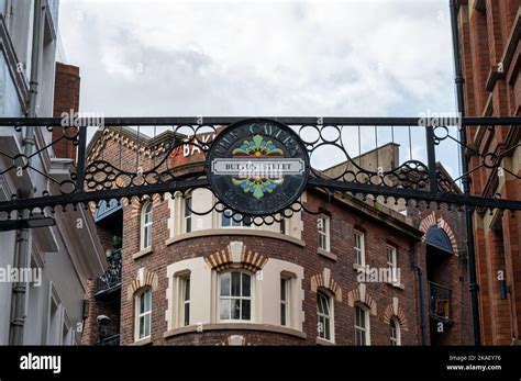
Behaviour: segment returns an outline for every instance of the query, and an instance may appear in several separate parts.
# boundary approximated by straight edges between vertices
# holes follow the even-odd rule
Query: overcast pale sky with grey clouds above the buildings
[[[82,112],[418,116],[455,109],[448,0],[62,0],[59,27],[67,63],[80,67]],[[422,155],[420,143],[414,150]]]

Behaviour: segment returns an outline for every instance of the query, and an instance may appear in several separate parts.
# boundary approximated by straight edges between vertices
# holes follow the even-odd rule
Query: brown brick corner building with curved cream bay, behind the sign
[[[171,138],[171,132],[147,137],[104,127],[88,160],[146,172]],[[159,171],[167,164],[178,172],[197,170],[202,155],[185,153],[176,152]],[[395,157],[389,163],[397,166],[396,145],[378,155]],[[95,220],[109,255],[120,253],[111,245],[122,236],[121,291],[106,292],[106,278],[101,287],[92,283],[84,343],[118,334],[122,345],[469,343],[457,212],[419,205],[399,213],[373,201],[331,201],[318,191],[302,201],[320,213],[301,211],[263,226],[226,212],[192,213],[214,204],[207,189],[125,200],[112,205],[114,213],[103,205]],[[386,278],[392,273],[398,279]],[[119,332],[112,325],[100,336],[99,316],[118,322]]]

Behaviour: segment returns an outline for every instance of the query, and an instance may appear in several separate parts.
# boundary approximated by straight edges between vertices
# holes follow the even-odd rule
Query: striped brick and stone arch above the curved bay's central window
[[[241,267],[252,272],[257,272],[268,261],[268,258],[246,249],[242,242],[231,242],[223,250],[215,251],[204,258],[207,265],[217,271],[222,271],[233,267]]]

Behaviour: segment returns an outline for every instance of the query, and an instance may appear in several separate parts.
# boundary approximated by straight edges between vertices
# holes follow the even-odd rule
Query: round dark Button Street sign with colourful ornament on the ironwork
[[[291,205],[309,177],[309,156],[289,126],[267,119],[236,122],[212,143],[208,182],[228,208],[244,215],[268,215]]]

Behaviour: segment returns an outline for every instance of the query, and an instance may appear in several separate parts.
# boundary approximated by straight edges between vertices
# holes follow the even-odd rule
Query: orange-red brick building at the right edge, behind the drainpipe
[[[458,34],[467,116],[520,116],[521,0],[459,1]],[[470,192],[521,199],[521,130],[467,131]],[[496,167],[497,165],[497,167]],[[481,167],[479,167],[481,166]],[[478,168],[479,167],[479,168]],[[481,343],[521,341],[521,213],[474,213]]]

